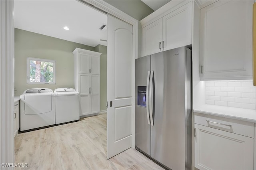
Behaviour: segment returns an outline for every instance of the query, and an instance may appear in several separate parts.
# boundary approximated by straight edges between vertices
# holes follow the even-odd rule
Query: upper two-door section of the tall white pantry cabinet
[[[75,56],[75,70],[82,74],[100,74],[100,54],[95,51],[76,48]]]

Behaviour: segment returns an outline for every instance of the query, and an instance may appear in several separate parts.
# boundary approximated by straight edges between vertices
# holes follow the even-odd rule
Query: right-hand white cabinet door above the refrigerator
[[[163,50],[192,42],[192,2],[163,17]]]

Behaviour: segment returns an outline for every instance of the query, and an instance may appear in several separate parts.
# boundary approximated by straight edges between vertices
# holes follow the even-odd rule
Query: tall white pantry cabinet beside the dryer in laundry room
[[[100,112],[100,55],[76,48],[74,54],[74,86],[80,93],[80,117]]]

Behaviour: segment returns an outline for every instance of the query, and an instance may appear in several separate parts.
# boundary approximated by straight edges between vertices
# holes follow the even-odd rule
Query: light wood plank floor
[[[20,133],[15,163],[29,170],[162,170],[134,148],[106,159],[106,114]]]

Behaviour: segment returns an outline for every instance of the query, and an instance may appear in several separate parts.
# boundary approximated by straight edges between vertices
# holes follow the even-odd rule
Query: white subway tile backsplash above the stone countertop
[[[206,104],[256,109],[252,80],[206,81]]]

